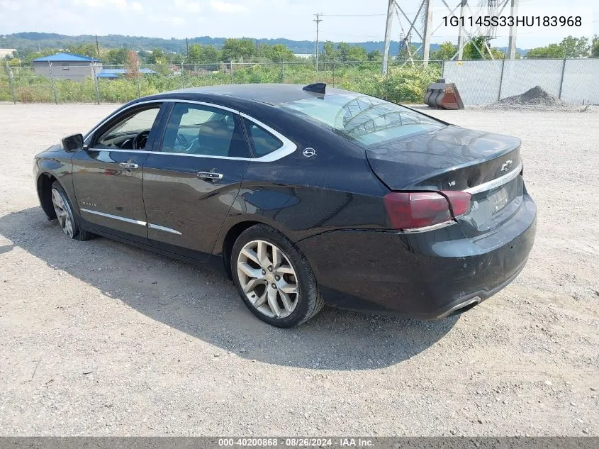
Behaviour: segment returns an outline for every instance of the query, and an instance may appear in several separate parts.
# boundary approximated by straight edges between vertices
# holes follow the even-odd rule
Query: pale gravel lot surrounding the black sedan
[[[522,138],[537,241],[461,318],[272,328],[233,284],[67,240],[35,153],[114,105],[0,105],[0,434],[599,436],[599,114],[436,111]]]

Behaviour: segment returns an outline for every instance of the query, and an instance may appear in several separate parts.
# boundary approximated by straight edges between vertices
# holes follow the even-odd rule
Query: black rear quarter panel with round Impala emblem
[[[228,230],[242,221],[269,224],[293,241],[333,229],[386,227],[381,197],[388,189],[362,148],[281,109],[260,109],[244,112],[292,140],[297,150],[274,162],[250,162],[215,254]],[[306,148],[316,154],[304,156]]]

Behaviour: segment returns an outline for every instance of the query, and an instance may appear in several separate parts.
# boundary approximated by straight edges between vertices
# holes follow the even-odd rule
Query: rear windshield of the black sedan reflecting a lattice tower
[[[337,94],[281,104],[281,108],[324,123],[363,146],[376,145],[444,125],[410,109],[362,94]]]

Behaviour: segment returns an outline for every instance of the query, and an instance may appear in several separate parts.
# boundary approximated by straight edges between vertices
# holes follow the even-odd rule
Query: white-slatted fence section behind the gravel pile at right
[[[488,104],[535,86],[566,104],[599,104],[599,59],[446,61],[464,104]]]

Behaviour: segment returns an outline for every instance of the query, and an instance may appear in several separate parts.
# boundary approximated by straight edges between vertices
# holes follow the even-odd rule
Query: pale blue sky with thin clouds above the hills
[[[433,1],[432,42],[457,43],[458,28],[443,26],[450,16],[442,0]],[[458,0],[446,0],[452,8]],[[481,0],[469,0],[472,11]],[[418,0],[398,0],[406,15],[415,14]],[[594,10],[593,10],[593,5]],[[320,40],[363,42],[383,40],[387,0],[0,0],[0,35],[21,31],[77,34],[144,35],[157,38],[289,38],[314,40],[315,13],[323,13]],[[509,13],[509,5],[503,15]],[[520,0],[519,15],[581,16],[582,26],[517,30],[517,46],[533,48],[559,42],[566,35],[599,34],[596,0]],[[408,22],[393,18],[392,38],[398,40]],[[476,28],[476,27],[475,27]],[[474,30],[471,30],[474,31]],[[507,43],[507,28],[498,28],[494,46]],[[413,34],[414,42],[420,38]]]

